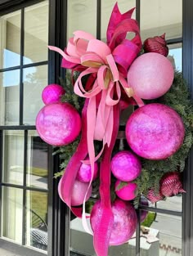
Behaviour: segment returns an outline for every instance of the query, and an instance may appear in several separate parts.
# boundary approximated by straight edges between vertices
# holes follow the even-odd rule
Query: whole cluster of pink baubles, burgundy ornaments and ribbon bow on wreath
[[[72,77],[79,72],[78,78],[72,81],[74,94],[85,101],[80,117],[74,106],[61,102],[65,90],[56,84],[49,85],[43,90],[46,106],[36,119],[39,136],[53,146],[71,143],[81,131],[79,146],[65,168],[58,192],[72,212],[83,219],[85,230],[93,235],[98,256],[108,255],[110,245],[121,245],[132,237],[137,227],[132,204],[136,197],[141,197],[141,204],[148,206],[148,200],[156,202],[184,192],[178,169],[173,169],[172,173],[164,171],[158,191],[153,186],[142,191],[148,200],[139,194],[141,186],[137,182],[146,173],[146,163],[168,161],[184,146],[186,133],[181,115],[171,106],[148,103],[170,92],[174,70],[166,57],[168,47],[164,35],[146,39],[146,53],[141,54],[143,46],[137,21],[132,19],[133,11],[121,14],[115,4],[106,43],[79,30],[74,32],[64,51],[49,47],[61,54],[61,66],[72,70]],[[131,40],[126,38],[129,32],[134,34]],[[147,100],[146,105],[143,100]],[[130,150],[114,154],[119,115],[131,104],[138,108],[128,118],[125,128]],[[191,127],[190,122],[186,122],[186,130]],[[95,148],[97,141],[101,141],[100,150]],[[92,208],[92,230],[89,230],[85,202],[92,195],[96,179],[100,181],[99,195]],[[110,196],[111,179],[115,200]],[[146,211],[141,213],[141,222],[146,214]]]

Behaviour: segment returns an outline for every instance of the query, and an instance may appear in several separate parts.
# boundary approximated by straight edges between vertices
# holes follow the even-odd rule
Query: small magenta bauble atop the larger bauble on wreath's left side
[[[57,103],[61,101],[61,96],[65,94],[65,89],[61,87],[61,85],[52,83],[47,85],[46,88],[43,89],[42,99],[45,105]]]

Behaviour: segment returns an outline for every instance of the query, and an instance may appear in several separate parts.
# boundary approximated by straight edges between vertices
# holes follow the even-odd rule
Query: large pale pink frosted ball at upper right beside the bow
[[[132,62],[128,70],[128,84],[141,99],[161,97],[173,83],[173,65],[155,52],[142,54]]]

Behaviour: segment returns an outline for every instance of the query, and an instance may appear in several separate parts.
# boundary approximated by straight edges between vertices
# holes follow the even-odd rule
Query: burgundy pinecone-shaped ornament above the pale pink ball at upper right
[[[168,56],[168,47],[165,41],[165,34],[154,38],[147,38],[143,43],[144,52],[156,52]]]

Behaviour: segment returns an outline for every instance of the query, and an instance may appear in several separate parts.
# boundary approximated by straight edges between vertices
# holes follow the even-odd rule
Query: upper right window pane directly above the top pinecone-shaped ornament
[[[182,37],[182,0],[141,1],[141,38],[166,33],[166,39]]]

